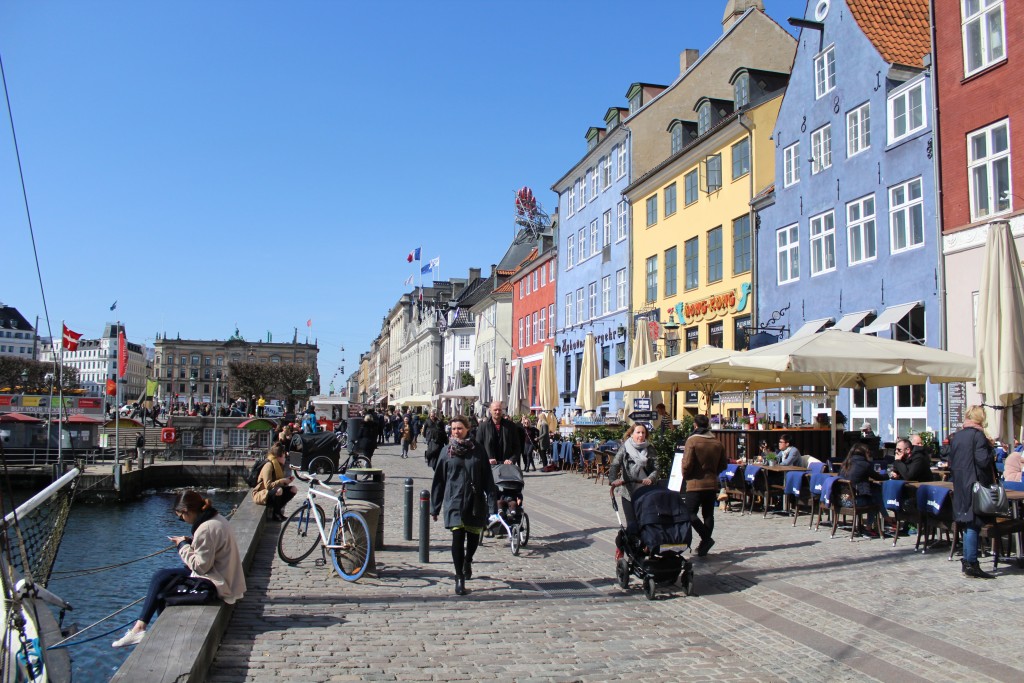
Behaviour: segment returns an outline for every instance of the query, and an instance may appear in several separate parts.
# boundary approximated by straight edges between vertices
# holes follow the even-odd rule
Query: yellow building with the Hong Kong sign
[[[673,154],[624,193],[633,218],[633,314],[660,323],[660,355],[746,348],[755,309],[751,201],[774,181],[771,136],[787,78],[735,70],[734,99],[697,98],[687,117],[695,121],[669,124]],[[721,413],[738,416],[740,401]],[[677,416],[707,412],[696,394],[680,393],[676,405]]]

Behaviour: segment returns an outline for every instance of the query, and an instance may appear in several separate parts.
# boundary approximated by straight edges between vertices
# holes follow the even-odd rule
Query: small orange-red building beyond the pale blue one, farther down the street
[[[522,358],[526,397],[540,410],[538,377],[544,345],[555,343],[555,263],[552,241],[542,242],[545,251],[535,249],[516,273],[512,286],[512,358]]]

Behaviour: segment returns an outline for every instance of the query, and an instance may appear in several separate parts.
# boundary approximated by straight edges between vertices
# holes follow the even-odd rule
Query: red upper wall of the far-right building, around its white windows
[[[1012,213],[1024,211],[1024,98],[1018,59],[1024,62],[1024,3],[1004,0],[1006,58],[965,79],[959,0],[935,0],[935,70],[939,103],[942,230],[971,224],[968,133],[1010,119]],[[976,221],[987,222],[988,218]]]

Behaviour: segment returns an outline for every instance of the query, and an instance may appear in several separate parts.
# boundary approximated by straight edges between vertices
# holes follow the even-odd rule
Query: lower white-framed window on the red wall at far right
[[[971,220],[1010,211],[1010,121],[969,133],[967,156]]]

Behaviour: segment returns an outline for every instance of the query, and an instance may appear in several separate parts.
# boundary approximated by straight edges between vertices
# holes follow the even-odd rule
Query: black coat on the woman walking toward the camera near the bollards
[[[474,507],[473,501],[468,500],[470,481],[476,487],[475,507],[480,514],[470,512]],[[430,514],[440,514],[443,503],[445,528],[486,526],[487,514],[497,504],[497,495],[490,464],[479,444],[474,443],[473,450],[462,458],[450,455],[449,446],[444,446],[430,486]]]

